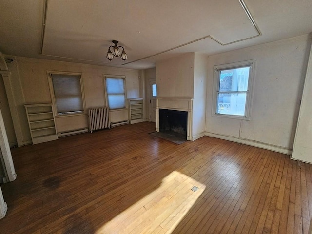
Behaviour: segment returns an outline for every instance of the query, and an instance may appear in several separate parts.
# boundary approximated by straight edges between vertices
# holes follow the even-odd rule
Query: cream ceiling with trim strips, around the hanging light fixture
[[[133,69],[312,32],[312,0],[0,0],[6,55]],[[106,59],[112,40],[128,55]]]

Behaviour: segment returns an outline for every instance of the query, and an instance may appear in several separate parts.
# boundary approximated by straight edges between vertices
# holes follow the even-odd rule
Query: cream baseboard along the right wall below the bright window
[[[209,133],[209,132],[206,132],[205,135],[208,137],[215,137],[215,138],[229,140],[229,141],[233,141],[233,142],[237,142],[237,143],[241,143],[245,145],[251,145],[251,146],[255,146],[255,147],[266,149],[266,150],[272,150],[272,151],[279,152],[279,153],[286,154],[286,155],[292,155],[292,149],[280,147],[276,145],[270,145],[270,144],[266,144],[266,143],[259,142],[259,141],[254,141],[254,140],[249,140],[249,139],[244,139],[244,138],[239,138],[239,137],[226,136],[226,135],[215,134],[215,133]]]

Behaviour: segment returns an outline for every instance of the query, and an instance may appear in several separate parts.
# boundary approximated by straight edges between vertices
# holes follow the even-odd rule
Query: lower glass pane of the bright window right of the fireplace
[[[246,93],[219,94],[217,101],[217,114],[244,116]]]

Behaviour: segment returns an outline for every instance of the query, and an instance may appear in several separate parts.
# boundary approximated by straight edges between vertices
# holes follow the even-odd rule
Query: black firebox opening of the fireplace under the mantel
[[[174,132],[187,138],[187,111],[159,109],[159,131]]]

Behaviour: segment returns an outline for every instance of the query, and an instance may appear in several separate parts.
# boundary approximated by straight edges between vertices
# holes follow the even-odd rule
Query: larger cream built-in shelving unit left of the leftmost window
[[[58,139],[52,104],[25,105],[33,144]]]

